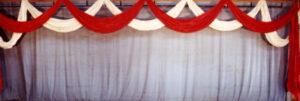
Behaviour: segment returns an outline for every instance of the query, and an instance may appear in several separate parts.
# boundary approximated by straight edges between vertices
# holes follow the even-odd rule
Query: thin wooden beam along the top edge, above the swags
[[[30,2],[55,2],[56,0],[29,0]],[[70,1],[96,1],[96,0],[70,0]],[[138,0],[111,0],[111,1],[138,1]],[[154,0],[154,1],[180,1],[180,0]],[[194,0],[194,1],[220,1],[220,0]],[[250,3],[258,2],[259,0],[232,0],[233,2]],[[292,3],[295,0],[266,0],[267,2]],[[21,0],[0,0],[0,2],[21,2]]]

